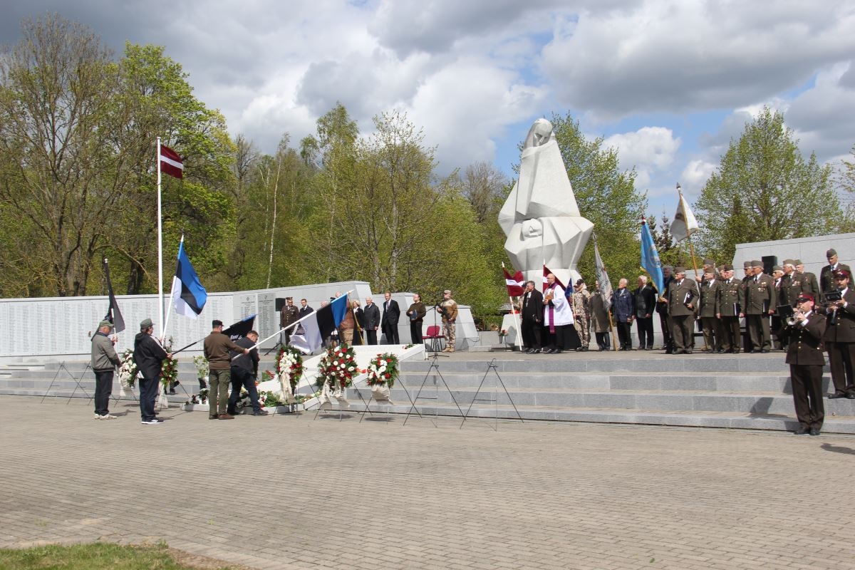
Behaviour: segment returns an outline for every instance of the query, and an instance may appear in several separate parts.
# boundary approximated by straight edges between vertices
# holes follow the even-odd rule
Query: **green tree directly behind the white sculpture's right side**
[[[603,138],[587,140],[578,120],[553,114],[552,130],[580,213],[593,223],[600,256],[617,279],[640,272],[640,222],[647,206],[646,197],[635,190],[635,170],[621,170],[617,150],[603,148]],[[593,284],[593,239],[579,261],[579,272]]]

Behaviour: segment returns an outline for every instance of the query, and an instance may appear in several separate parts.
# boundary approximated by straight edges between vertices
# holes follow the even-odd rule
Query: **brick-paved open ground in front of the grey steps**
[[[0,546],[255,568],[855,569],[855,438],[0,397]]]

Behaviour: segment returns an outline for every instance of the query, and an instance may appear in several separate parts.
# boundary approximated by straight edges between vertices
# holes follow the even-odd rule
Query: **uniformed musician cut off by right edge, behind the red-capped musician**
[[[840,291],[840,301],[826,301],[825,350],[834,392],[829,398],[846,397],[855,400],[855,291],[849,286],[852,273],[838,269],[833,276],[834,291]],[[825,295],[831,291],[826,291]]]

